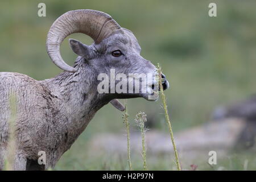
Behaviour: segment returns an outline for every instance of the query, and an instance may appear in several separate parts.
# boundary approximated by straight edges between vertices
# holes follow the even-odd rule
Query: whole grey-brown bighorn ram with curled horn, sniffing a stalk
[[[76,32],[89,35],[86,46],[69,39],[77,55],[73,67],[60,55],[61,42]],[[94,114],[111,102],[123,110],[118,98],[135,98],[150,93],[98,93],[99,73],[156,73],[150,61],[140,56],[141,47],[133,33],[119,26],[108,14],[96,10],[73,10],[51,26],[46,42],[49,57],[64,70],[56,77],[36,81],[19,73],[0,73],[0,170],[3,169],[10,135],[10,93],[16,95],[14,170],[54,167],[61,155],[85,130]],[[163,77],[163,87],[168,81]],[[156,82],[156,81],[155,81]],[[155,90],[153,82],[147,89]],[[151,93],[152,94],[152,93]],[[38,164],[38,152],[46,152],[46,164]]]

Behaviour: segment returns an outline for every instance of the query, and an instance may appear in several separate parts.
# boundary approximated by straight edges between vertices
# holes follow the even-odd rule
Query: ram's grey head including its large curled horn
[[[158,72],[150,61],[140,55],[141,47],[133,32],[120,27],[110,15],[100,11],[69,11],[52,24],[47,36],[47,52],[57,67],[67,72],[77,72],[60,55],[61,42],[76,32],[89,35],[94,40],[90,46],[75,39],[69,39],[69,44],[73,52],[96,70],[99,75],[95,80],[100,89],[98,92],[103,90],[114,106],[123,110],[116,98],[157,99],[153,96],[154,91],[159,89],[158,80],[155,79]],[[104,82],[101,82],[101,78]],[[167,89],[168,81],[163,74],[162,78],[163,88]]]

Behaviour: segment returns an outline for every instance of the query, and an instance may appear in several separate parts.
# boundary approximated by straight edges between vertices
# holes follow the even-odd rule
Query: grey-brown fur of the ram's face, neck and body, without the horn
[[[37,165],[39,151],[46,152],[45,168],[54,167],[102,106],[114,98],[146,98],[142,94],[97,92],[98,74],[109,74],[111,68],[126,75],[156,73],[154,65],[139,55],[141,48],[130,31],[123,29],[92,46],[76,40],[70,44],[79,54],[76,73],[63,72],[43,81],[19,73],[0,73],[0,170],[9,138],[10,93],[17,98],[15,170],[42,169]],[[113,57],[115,50],[123,55]]]

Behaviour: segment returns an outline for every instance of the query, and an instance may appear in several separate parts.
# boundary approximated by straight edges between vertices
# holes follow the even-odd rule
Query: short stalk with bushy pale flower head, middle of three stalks
[[[135,123],[139,126],[139,130],[141,131],[142,136],[142,158],[143,158],[143,168],[144,170],[147,170],[147,163],[146,163],[146,143],[145,143],[145,134],[146,134],[146,128],[144,125],[144,122],[147,121],[147,115],[139,111],[138,114],[135,116]]]

